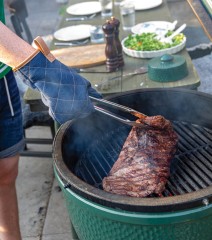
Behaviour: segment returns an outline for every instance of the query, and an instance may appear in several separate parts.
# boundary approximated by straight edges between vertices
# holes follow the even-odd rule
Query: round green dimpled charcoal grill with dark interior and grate
[[[211,239],[212,96],[185,89],[145,89],[110,101],[172,121],[178,151],[163,197],[111,194],[102,190],[101,180],[131,128],[97,112],[64,124],[54,141],[54,166],[80,239]],[[111,235],[108,227],[119,230]]]

